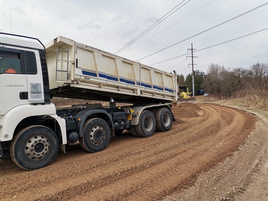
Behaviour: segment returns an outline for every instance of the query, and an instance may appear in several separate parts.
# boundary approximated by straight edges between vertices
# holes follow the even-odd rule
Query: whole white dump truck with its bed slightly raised
[[[79,141],[102,151],[128,129],[137,137],[168,131],[178,87],[174,74],[59,36],[45,46],[0,37],[0,159],[42,168]],[[23,38],[18,39],[18,38]],[[30,38],[37,42],[25,40]],[[53,97],[109,101],[55,108]],[[118,107],[116,102],[129,106]]]

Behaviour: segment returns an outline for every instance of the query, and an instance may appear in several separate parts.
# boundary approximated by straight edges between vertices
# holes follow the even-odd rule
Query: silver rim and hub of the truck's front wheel
[[[36,135],[28,140],[25,145],[25,154],[31,160],[44,158],[50,149],[50,142],[43,135]]]

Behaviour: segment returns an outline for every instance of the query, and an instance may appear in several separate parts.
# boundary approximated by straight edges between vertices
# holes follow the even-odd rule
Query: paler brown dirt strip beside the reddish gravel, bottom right
[[[267,200],[267,129],[258,121],[232,157],[200,174],[187,191],[163,200]]]

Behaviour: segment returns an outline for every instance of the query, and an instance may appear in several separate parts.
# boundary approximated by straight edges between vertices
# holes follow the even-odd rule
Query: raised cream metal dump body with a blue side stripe
[[[177,100],[174,74],[62,36],[45,46],[53,96],[126,103]]]

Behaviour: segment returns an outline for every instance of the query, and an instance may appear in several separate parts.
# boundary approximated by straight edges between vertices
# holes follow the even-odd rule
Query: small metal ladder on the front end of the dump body
[[[62,53],[67,53],[67,60],[61,60],[61,59],[58,59],[59,57],[59,53],[62,52]],[[59,70],[59,64],[60,63],[67,63],[67,70]],[[69,50],[58,50],[58,48],[56,49],[56,82],[72,82],[71,81],[71,78],[69,76],[69,63],[72,63],[74,64],[74,61],[69,61]],[[61,79],[58,79],[58,73],[59,72],[66,72],[66,80],[61,80]],[[60,76],[60,78],[62,78],[62,76]]]

